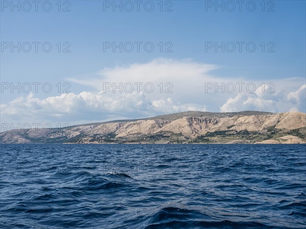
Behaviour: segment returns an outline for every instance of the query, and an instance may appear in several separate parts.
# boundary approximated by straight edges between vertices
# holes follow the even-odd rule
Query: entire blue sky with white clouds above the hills
[[[305,112],[305,1],[1,1],[1,130]]]

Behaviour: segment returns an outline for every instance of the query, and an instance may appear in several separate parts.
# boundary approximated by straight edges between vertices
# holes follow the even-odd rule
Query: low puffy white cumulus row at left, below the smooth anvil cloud
[[[150,101],[140,93],[62,94],[61,96],[38,99],[31,93],[7,104],[1,104],[1,116],[20,120],[57,120],[76,122],[78,120],[105,121],[109,117],[143,118],[168,112],[205,110],[197,104],[180,104],[171,98]]]

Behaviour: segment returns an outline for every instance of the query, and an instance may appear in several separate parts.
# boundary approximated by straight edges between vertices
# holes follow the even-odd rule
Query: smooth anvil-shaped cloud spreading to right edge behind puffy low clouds
[[[241,77],[226,78],[214,75],[213,70],[220,68],[217,65],[197,63],[190,59],[154,59],[147,63],[104,68],[91,77],[85,77],[86,79],[69,78],[69,80],[90,86],[96,92],[112,91],[113,86],[118,86],[120,83],[124,85],[128,82],[132,84],[139,82],[142,83],[140,91],[151,101],[160,100],[161,97],[171,97],[175,102],[201,104],[210,111],[219,111],[220,104],[224,104],[229,97],[235,98],[240,93],[246,94],[250,98],[252,96],[261,98],[264,104],[270,106],[270,100],[277,102],[288,92],[300,87],[304,81],[303,78],[291,77],[266,79],[263,83],[260,79],[249,80]],[[154,92],[147,93],[144,90],[143,85],[147,82],[154,85]],[[113,84],[111,89],[104,87],[106,83]],[[170,94],[165,93],[169,89],[166,87],[166,83],[171,84]],[[162,85],[162,89],[160,85]],[[229,92],[233,86],[234,90]],[[134,85],[134,91],[136,91],[136,85]],[[267,105],[259,106],[258,99],[250,99],[247,104],[250,107],[250,104],[258,104],[253,107],[254,109],[267,108]],[[277,110],[285,110],[289,105],[277,104],[276,106]]]

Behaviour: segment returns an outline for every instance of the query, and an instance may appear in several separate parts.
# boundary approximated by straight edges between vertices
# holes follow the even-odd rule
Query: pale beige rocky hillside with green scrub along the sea
[[[0,133],[0,142],[303,144],[306,143],[306,114],[187,111],[62,129],[14,129]]]

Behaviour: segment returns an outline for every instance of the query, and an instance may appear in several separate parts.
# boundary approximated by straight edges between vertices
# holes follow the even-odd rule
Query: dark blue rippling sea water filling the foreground
[[[2,145],[2,228],[305,228],[305,145]]]

